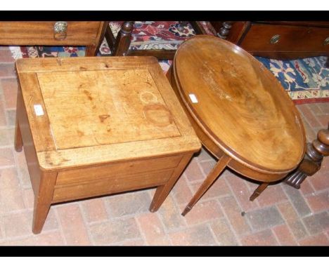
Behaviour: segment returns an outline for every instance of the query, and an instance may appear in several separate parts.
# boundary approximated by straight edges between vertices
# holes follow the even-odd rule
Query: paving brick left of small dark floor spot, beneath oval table
[[[243,211],[240,209],[238,203],[236,203],[236,200],[233,198],[233,196],[221,197],[219,199],[219,203],[224,209],[224,212],[228,217],[231,226],[236,231],[236,234],[242,235],[247,234],[251,231],[250,226],[247,223],[246,217],[243,217],[241,215]]]

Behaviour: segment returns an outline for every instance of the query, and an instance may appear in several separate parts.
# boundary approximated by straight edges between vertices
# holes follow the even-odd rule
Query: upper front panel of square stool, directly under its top
[[[150,173],[152,171],[175,168],[182,159],[182,155],[163,156],[154,159],[143,159],[120,163],[110,163],[103,166],[79,168],[58,173],[56,186],[95,182],[111,177],[113,180],[125,175]]]

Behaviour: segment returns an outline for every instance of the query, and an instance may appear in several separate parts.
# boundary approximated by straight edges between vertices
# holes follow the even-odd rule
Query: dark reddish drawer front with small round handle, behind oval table
[[[329,52],[328,39],[329,28],[252,25],[239,46],[250,52]]]

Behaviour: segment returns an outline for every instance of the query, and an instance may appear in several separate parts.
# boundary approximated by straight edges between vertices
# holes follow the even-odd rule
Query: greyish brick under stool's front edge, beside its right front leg
[[[110,217],[122,217],[147,212],[150,202],[150,196],[146,191],[115,194],[105,199]]]

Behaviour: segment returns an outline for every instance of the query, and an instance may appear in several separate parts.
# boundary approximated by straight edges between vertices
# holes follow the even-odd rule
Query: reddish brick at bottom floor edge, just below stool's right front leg
[[[147,213],[138,215],[136,220],[141,227],[146,243],[150,246],[164,246],[169,245],[169,239],[167,238],[164,229],[162,227],[157,213]]]

